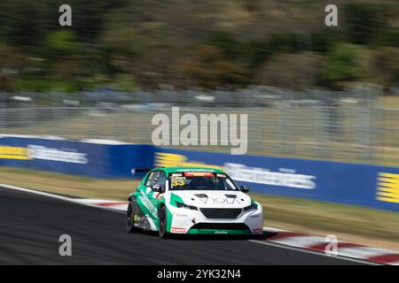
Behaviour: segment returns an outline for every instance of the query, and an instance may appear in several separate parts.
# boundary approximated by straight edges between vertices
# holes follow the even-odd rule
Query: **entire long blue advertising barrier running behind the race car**
[[[295,158],[231,156],[152,145],[0,136],[0,165],[94,178],[132,178],[153,165],[223,168],[253,192],[399,211],[399,168]],[[136,177],[141,177],[138,174]]]

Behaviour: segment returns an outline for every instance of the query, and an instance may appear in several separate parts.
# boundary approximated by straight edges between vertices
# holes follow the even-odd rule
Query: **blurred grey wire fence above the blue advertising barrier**
[[[378,87],[366,86],[301,93],[254,87],[211,93],[106,89],[0,94],[0,134],[152,143],[153,115],[165,113],[171,118],[171,107],[179,106],[180,117],[247,114],[248,154],[399,166],[399,96],[391,97],[397,99],[396,105],[386,105],[381,93]],[[172,126],[178,126],[174,122]],[[230,152],[231,148],[190,149]]]

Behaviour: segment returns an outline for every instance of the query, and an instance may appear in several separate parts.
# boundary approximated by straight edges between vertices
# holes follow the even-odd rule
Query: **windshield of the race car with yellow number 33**
[[[239,190],[229,176],[215,172],[170,173],[169,188],[170,190]]]

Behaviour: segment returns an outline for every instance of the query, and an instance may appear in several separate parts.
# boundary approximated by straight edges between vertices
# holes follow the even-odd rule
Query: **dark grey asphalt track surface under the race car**
[[[72,256],[59,256],[61,234]],[[127,233],[121,213],[0,187],[0,264],[362,263],[222,235],[160,240]]]

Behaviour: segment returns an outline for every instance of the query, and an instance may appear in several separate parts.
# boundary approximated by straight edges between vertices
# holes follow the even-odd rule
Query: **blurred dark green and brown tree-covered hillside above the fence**
[[[336,88],[364,74],[386,85],[397,81],[387,59],[395,52],[383,48],[399,46],[395,0],[342,4],[340,28],[320,27],[315,1],[69,0],[72,27],[59,27],[60,4],[0,1],[0,90],[239,88],[289,80]],[[370,75],[372,64],[358,64],[359,47],[336,42],[377,50],[385,71]],[[325,62],[323,72],[303,80],[302,69],[290,64],[297,58]]]

